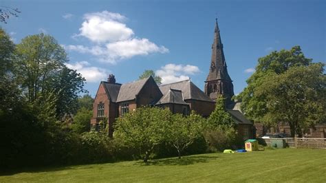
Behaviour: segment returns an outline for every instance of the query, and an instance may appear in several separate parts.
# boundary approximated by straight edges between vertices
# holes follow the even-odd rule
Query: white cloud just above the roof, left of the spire
[[[155,74],[162,78],[162,84],[174,83],[180,80],[189,79],[188,75],[199,73],[200,70],[195,65],[176,65],[169,63],[158,69]]]

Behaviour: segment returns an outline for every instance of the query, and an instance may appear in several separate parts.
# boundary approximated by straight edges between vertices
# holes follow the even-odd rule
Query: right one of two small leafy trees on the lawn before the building
[[[181,153],[193,144],[193,142],[202,134],[202,127],[204,118],[195,114],[193,111],[190,116],[182,116],[181,114],[174,114],[169,125],[167,141],[175,147],[179,159]]]

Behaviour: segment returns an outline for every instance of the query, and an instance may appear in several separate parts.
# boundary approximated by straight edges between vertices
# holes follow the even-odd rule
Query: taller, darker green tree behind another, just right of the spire
[[[270,74],[282,74],[290,67],[309,65],[312,59],[305,58],[300,46],[291,50],[272,52],[268,56],[259,58],[256,71],[248,78],[248,86],[236,98],[241,101],[241,111],[255,122],[263,122],[263,116],[268,113],[266,97],[257,95],[257,88],[263,85],[265,78]]]

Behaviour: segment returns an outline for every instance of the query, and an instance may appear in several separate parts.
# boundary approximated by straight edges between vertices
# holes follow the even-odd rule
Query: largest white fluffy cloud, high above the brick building
[[[98,61],[111,64],[133,56],[169,52],[166,47],[156,45],[149,39],[135,37],[133,30],[123,23],[126,19],[119,13],[108,11],[85,14],[80,33],[74,34],[72,38],[84,36],[91,41],[91,45],[63,45],[63,47],[67,51],[92,54]]]

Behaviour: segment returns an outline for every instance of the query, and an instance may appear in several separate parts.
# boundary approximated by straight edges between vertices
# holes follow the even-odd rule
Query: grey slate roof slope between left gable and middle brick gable
[[[116,102],[120,103],[122,101],[135,99],[135,96],[139,94],[140,90],[145,85],[147,80],[149,80],[149,78],[152,78],[152,77],[149,76],[148,78],[144,78],[142,80],[136,80],[132,83],[122,84],[120,87],[120,92],[118,94],[118,99]]]

